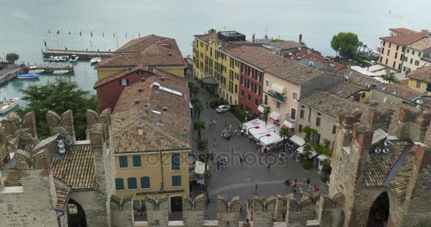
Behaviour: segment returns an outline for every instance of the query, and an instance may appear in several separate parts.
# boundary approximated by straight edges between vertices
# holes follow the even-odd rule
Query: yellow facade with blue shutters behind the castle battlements
[[[167,195],[169,211],[180,211],[181,196],[189,196],[190,151],[116,154],[116,195],[132,195],[135,207],[148,195]]]

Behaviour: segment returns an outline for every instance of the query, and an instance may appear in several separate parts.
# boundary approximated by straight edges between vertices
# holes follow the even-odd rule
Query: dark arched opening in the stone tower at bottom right
[[[388,223],[389,217],[389,197],[386,192],[382,193],[374,200],[369,210],[367,227],[383,227]]]

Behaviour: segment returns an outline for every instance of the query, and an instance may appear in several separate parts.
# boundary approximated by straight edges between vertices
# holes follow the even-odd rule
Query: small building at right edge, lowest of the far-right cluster
[[[423,67],[409,72],[408,87],[424,94],[431,94],[431,67]]]

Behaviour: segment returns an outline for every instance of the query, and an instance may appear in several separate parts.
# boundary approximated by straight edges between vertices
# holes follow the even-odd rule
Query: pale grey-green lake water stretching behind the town
[[[379,37],[388,35],[388,28],[430,30],[431,1],[0,0],[0,21],[0,56],[17,52],[19,62],[30,64],[42,62],[44,41],[49,48],[115,50],[132,38],[153,33],[176,38],[183,55],[191,55],[193,35],[210,28],[239,31],[247,39],[255,33],[256,38],[267,34],[298,40],[302,33],[310,48],[334,55],[330,40],[340,31],[357,33],[359,40],[376,48]],[[0,96],[21,96],[18,89],[55,77],[42,74],[35,81],[14,79],[0,87]],[[57,77],[77,81],[82,89],[94,92],[96,72],[86,61],[76,64],[74,74]]]

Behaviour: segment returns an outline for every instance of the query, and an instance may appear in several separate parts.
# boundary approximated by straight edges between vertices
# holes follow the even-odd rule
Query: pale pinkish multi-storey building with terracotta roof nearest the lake
[[[430,32],[427,30],[417,32],[407,28],[390,28],[389,31],[391,31],[391,36],[380,38],[379,63],[401,72],[403,69],[403,62],[405,61],[406,49],[408,49],[406,47],[430,35]]]

